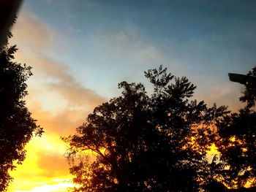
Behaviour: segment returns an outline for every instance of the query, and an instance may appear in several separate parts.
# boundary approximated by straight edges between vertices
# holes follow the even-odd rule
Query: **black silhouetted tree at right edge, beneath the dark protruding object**
[[[247,75],[253,74],[256,67]],[[217,125],[217,146],[221,153],[218,174],[230,188],[243,191],[247,185],[256,191],[256,84],[249,81],[245,86],[240,100],[246,102],[246,107],[227,115]]]

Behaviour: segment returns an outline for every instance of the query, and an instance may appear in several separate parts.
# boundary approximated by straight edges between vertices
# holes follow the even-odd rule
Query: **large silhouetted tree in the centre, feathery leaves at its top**
[[[162,66],[145,74],[151,96],[141,83],[121,82],[121,96],[64,138],[73,191],[198,191],[211,180],[206,150],[225,107],[189,101],[195,85]]]

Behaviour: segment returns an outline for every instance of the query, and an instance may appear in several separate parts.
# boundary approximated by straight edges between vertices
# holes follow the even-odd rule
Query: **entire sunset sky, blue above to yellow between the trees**
[[[60,137],[94,107],[118,96],[118,82],[143,82],[167,67],[197,85],[194,99],[236,111],[243,87],[227,73],[256,65],[256,1],[25,0],[12,27],[15,61],[32,66],[26,105],[45,134],[26,146],[9,191],[61,192],[69,182]]]

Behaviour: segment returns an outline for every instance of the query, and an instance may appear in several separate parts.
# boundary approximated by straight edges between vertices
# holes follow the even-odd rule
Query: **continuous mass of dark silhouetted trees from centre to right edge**
[[[255,191],[255,84],[246,83],[246,107],[231,113],[189,99],[195,85],[162,66],[145,76],[151,96],[141,83],[121,82],[121,96],[64,138],[79,184],[72,191]],[[220,155],[209,161],[213,144]]]

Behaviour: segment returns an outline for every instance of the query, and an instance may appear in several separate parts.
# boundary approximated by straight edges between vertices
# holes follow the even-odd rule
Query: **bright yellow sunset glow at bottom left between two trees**
[[[10,172],[14,177],[8,191],[64,192],[74,184],[69,182],[68,165],[64,158],[65,147],[58,135],[45,134],[34,138],[26,146],[23,164]]]

